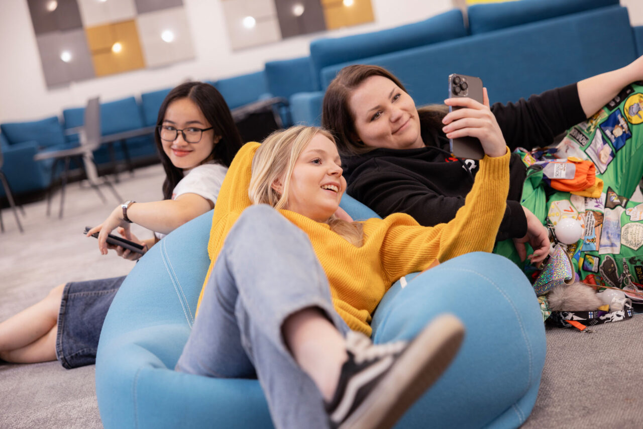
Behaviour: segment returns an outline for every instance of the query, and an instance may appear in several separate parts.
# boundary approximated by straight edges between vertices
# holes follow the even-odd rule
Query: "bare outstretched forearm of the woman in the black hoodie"
[[[638,80],[643,80],[643,56],[623,68],[578,82],[578,98],[586,118],[607,104],[623,87]]]

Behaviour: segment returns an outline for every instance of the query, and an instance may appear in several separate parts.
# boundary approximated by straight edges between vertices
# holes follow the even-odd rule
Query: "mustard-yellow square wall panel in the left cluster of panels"
[[[133,20],[91,27],[86,31],[96,76],[113,75],[145,67],[136,23]],[[112,51],[116,42],[122,46],[120,52]]]

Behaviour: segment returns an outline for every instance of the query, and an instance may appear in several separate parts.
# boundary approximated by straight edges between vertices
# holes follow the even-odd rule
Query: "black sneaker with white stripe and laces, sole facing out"
[[[464,338],[464,325],[440,315],[411,342],[374,345],[364,334],[346,336],[349,359],[330,403],[332,428],[392,427],[449,366]]]

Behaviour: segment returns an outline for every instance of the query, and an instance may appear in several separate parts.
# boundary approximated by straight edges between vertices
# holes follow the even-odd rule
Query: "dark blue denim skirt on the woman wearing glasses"
[[[69,282],[58,314],[56,358],[66,369],[96,363],[98,338],[123,277]]]

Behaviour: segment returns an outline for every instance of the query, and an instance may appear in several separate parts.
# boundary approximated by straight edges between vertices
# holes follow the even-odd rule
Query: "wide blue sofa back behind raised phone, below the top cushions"
[[[618,55],[610,55],[615,50]],[[604,55],[610,60],[599,60]],[[492,103],[509,102],[625,66],[636,57],[628,12],[611,6],[360,62],[392,71],[422,105],[442,103],[451,73],[478,76]],[[349,64],[324,73],[328,78]]]

